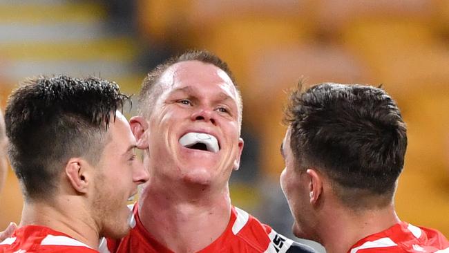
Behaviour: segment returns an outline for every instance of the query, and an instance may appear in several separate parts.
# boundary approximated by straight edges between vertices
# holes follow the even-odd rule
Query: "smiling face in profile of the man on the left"
[[[124,116],[117,111],[115,122],[109,124],[106,146],[95,166],[93,198],[94,217],[100,233],[122,238],[130,226],[128,198],[137,193],[137,185],[149,179],[142,162],[135,155],[136,141]]]

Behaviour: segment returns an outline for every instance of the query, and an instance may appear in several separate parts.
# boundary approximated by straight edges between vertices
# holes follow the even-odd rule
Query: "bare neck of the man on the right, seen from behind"
[[[344,207],[335,208],[329,210],[324,219],[326,221],[323,224],[327,226],[321,227],[318,234],[321,234],[321,243],[328,253],[347,252],[362,238],[388,229],[400,221],[392,204],[357,212]]]

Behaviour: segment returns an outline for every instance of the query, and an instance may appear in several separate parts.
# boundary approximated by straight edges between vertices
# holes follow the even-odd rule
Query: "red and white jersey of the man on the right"
[[[400,222],[358,241],[348,253],[439,252],[449,253],[448,239],[435,229]]]

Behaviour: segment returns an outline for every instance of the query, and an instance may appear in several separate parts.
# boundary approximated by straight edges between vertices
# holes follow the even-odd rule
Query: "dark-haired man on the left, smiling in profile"
[[[97,252],[100,236],[128,233],[126,203],[148,173],[120,113],[127,100],[113,82],[64,75],[29,79],[10,95],[8,154],[24,203],[1,252]]]

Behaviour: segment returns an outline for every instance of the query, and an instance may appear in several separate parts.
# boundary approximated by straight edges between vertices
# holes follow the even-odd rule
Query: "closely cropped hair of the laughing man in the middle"
[[[162,89],[157,88],[157,82],[159,82],[159,79],[161,75],[166,71],[167,68],[172,66],[173,64],[176,64],[178,62],[188,62],[188,61],[199,61],[206,64],[213,64],[214,66],[220,68],[222,71],[225,71],[231,81],[233,82],[234,86],[236,86],[236,90],[238,92],[238,111],[240,113],[240,118],[242,115],[242,98],[240,95],[240,90],[238,89],[238,86],[236,84],[236,80],[233,77],[233,74],[231,72],[231,69],[229,69],[229,66],[226,62],[222,61],[217,55],[214,55],[213,53],[208,52],[207,50],[187,50],[182,55],[178,55],[175,57],[171,57],[167,59],[162,64],[156,66],[152,71],[150,71],[144,81],[142,82],[142,88],[140,90],[139,95],[139,114],[140,115],[149,115],[151,112],[151,106],[152,103],[154,103],[157,100],[157,97],[159,97],[162,94]]]

